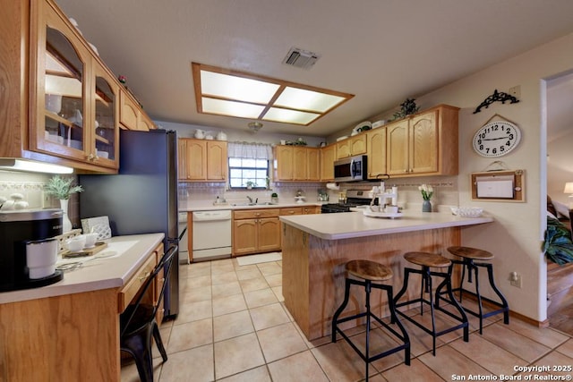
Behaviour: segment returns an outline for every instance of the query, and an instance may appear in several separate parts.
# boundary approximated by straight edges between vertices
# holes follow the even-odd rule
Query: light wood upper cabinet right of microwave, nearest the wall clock
[[[436,106],[387,125],[387,174],[458,174],[458,110]]]

